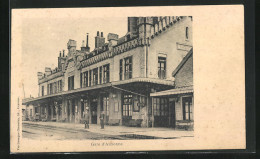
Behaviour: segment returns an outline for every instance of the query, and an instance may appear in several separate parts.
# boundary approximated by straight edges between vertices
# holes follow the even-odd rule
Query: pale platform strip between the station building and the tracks
[[[100,125],[90,124],[89,129],[85,129],[84,124],[76,123],[61,123],[61,122],[32,122],[23,121],[23,123],[36,124],[36,125],[48,125],[61,128],[78,129],[89,131],[93,133],[99,133],[104,135],[144,135],[153,136],[159,138],[180,138],[180,137],[193,137],[193,131],[175,130],[173,128],[141,128],[141,127],[126,127],[126,126],[108,126],[105,125],[105,129],[101,129]]]

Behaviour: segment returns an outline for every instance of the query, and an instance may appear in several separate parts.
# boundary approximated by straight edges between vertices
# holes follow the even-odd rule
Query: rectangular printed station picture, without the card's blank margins
[[[92,20],[81,23],[84,26]],[[24,92],[27,98],[22,100],[24,138],[129,140],[193,136],[192,17],[121,18],[115,20],[120,23],[116,30],[121,35],[104,33],[102,29],[109,31],[105,27],[113,25],[113,20],[106,19],[99,31],[95,26],[85,30],[95,35],[73,35],[85,36],[82,43],[67,39],[67,47],[60,48],[60,52],[50,51],[47,59],[34,59],[40,65],[52,59],[57,62],[54,67],[30,72],[30,76],[37,76],[37,85],[32,88],[38,88],[36,96],[28,92],[31,81],[23,85],[24,91],[28,90]],[[84,30],[80,25],[62,31],[73,34],[78,27]],[[57,35],[56,40],[64,36],[51,30],[62,26],[48,26]],[[25,33],[41,37],[33,35],[32,29]],[[54,37],[42,37],[38,39],[40,47],[55,49],[53,43],[43,45],[54,40],[47,37]],[[30,46],[25,45],[23,50],[26,56],[35,54]]]

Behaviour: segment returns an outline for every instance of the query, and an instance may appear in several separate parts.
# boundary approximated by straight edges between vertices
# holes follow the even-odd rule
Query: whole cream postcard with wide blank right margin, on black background
[[[243,20],[229,21],[243,12],[223,6],[205,15],[232,13],[222,19],[233,31],[222,35],[212,29],[216,20],[203,19],[211,9],[200,16],[191,6],[13,10],[11,151],[244,148],[243,45],[225,54],[216,38],[243,44]],[[225,72],[227,65],[237,69]],[[233,84],[216,78],[227,76]],[[233,137],[241,140],[222,145]]]

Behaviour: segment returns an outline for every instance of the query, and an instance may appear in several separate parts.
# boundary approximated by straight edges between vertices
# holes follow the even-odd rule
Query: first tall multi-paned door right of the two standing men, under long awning
[[[133,96],[131,94],[123,95],[122,105],[122,124],[128,125],[129,120],[132,119],[132,108],[133,108]]]

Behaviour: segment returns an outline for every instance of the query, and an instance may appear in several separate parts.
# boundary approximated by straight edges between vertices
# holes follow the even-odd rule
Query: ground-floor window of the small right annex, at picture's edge
[[[183,105],[183,120],[193,120],[192,98],[191,97],[182,98],[182,105]]]

